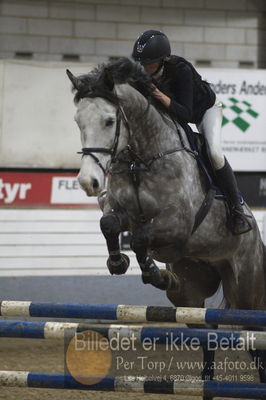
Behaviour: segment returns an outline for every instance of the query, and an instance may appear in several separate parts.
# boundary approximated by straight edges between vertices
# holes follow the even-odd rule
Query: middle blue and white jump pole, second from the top
[[[0,337],[31,339],[63,339],[74,337],[84,331],[95,331],[106,337],[122,339],[132,338],[143,342],[147,338],[157,344],[185,346],[208,346],[210,349],[236,348],[244,350],[265,350],[266,332],[231,329],[177,328],[173,326],[140,326],[117,324],[84,324],[75,322],[39,322],[39,321],[0,321]]]

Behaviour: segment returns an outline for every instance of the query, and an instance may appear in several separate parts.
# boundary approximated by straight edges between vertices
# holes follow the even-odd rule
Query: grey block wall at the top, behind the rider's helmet
[[[198,66],[265,68],[265,0],[1,0],[0,58],[102,62],[147,29]]]

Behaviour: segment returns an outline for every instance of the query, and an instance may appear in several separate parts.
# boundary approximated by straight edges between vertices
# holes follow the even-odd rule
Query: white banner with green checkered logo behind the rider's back
[[[202,69],[223,104],[222,146],[236,171],[266,171],[266,71]]]

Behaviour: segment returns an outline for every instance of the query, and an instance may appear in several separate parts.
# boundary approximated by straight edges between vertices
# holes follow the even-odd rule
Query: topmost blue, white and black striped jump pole
[[[2,301],[0,316],[266,326],[266,311]]]

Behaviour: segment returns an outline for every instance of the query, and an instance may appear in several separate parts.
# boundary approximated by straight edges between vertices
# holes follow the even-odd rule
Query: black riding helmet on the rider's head
[[[142,33],[136,40],[132,57],[142,65],[153,64],[171,54],[168,37],[155,30]]]

